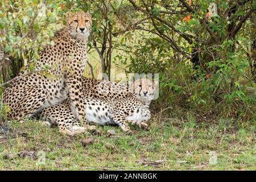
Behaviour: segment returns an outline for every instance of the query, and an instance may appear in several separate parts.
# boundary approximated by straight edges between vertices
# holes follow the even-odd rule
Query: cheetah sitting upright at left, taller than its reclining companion
[[[5,89],[3,104],[10,108],[11,119],[24,122],[45,107],[66,98],[70,98],[70,110],[74,117],[79,122],[85,119],[82,74],[92,19],[89,13],[83,11],[67,13],[66,18],[66,26],[55,32],[54,45],[47,45],[39,54],[39,60],[27,65]],[[27,71],[31,66],[34,70]],[[67,128],[63,129],[64,133],[65,130]]]

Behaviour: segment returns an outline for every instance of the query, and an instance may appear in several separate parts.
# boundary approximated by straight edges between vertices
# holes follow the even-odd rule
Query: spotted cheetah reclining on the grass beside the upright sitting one
[[[105,89],[103,85],[106,86]],[[129,134],[133,131],[127,122],[149,129],[146,121],[151,117],[149,105],[155,96],[154,82],[149,79],[140,78],[134,81],[129,90],[128,86],[122,82],[83,78],[83,93],[87,96],[83,98],[87,121],[98,125],[117,124]],[[75,118],[69,105],[69,100],[66,100],[61,104],[47,107],[41,113],[42,120],[61,127],[74,125]],[[78,132],[68,134],[75,135]]]

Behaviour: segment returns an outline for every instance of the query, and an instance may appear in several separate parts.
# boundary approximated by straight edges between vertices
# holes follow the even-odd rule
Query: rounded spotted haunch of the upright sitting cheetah
[[[25,122],[44,108],[46,91],[38,86],[7,90],[4,101],[11,110],[11,118]]]

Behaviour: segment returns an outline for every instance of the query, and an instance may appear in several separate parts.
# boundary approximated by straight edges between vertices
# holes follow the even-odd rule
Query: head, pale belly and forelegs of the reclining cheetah
[[[128,122],[143,129],[149,129],[147,121],[151,114],[149,105],[155,96],[154,82],[140,78],[133,82],[131,94],[127,97],[115,98],[85,98],[86,119],[89,122],[105,125],[117,124],[126,133],[133,133]]]

